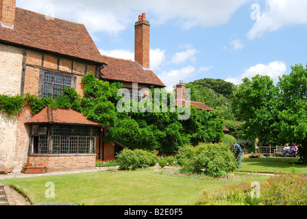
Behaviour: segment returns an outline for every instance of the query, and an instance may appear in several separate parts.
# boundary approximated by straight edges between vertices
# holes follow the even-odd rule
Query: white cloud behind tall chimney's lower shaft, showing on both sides
[[[150,49],[150,69],[160,70],[160,65],[165,60],[165,51],[162,49]],[[134,61],[134,52],[125,49],[114,49],[114,50],[103,50],[99,49],[102,55],[107,55],[110,57],[116,57],[124,60]]]

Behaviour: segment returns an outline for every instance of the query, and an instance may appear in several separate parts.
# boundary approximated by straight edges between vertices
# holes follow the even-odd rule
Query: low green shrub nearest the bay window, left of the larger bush
[[[143,166],[155,166],[158,162],[157,153],[136,149],[124,149],[117,155],[119,166],[123,169],[134,169]]]

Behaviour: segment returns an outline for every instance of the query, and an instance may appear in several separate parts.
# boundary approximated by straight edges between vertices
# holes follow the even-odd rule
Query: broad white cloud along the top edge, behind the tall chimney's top
[[[138,14],[147,12],[153,24],[164,24],[170,20],[184,29],[196,25],[223,25],[238,8],[248,0],[27,0],[17,1],[17,7],[46,14],[51,3],[55,17],[83,23],[91,34],[106,31],[118,34],[137,21]]]

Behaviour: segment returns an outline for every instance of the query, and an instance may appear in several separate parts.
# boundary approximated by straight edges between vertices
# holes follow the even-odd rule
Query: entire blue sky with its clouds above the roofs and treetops
[[[134,23],[151,23],[151,69],[171,88],[205,77],[241,83],[307,63],[305,0],[17,0],[17,7],[84,23],[103,55],[134,60]]]

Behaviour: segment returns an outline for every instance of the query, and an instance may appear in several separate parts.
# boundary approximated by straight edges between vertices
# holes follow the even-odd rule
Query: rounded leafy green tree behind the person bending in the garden
[[[278,88],[269,76],[256,75],[243,79],[234,94],[233,108],[236,116],[244,121],[245,138],[274,138]]]

